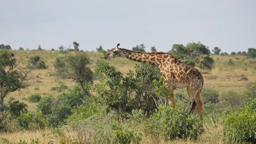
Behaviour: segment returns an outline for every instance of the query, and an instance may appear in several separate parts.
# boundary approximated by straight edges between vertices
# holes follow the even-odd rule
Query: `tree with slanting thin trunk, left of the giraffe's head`
[[[74,55],[69,54],[64,57],[64,68],[58,69],[58,76],[63,79],[72,79],[80,84],[84,94],[90,95],[88,85],[93,84],[92,70],[88,68],[90,64],[88,56],[79,52]]]

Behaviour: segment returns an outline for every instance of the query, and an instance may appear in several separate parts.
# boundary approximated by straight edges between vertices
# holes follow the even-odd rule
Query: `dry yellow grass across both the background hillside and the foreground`
[[[20,61],[21,66],[26,66],[28,58],[31,56],[40,56],[46,65],[47,69],[44,70],[33,70],[30,78],[30,83],[32,86],[28,87],[28,89],[23,90],[22,93],[12,92],[8,95],[8,97],[13,97],[16,100],[20,100],[28,104],[28,110],[30,112],[35,112],[36,103],[29,103],[26,100],[22,100],[24,97],[28,97],[31,94],[41,94],[41,96],[57,96],[60,92],[52,91],[51,87],[60,86],[59,82],[64,82],[67,86],[74,86],[75,82],[71,80],[62,80],[58,79],[54,75],[54,66],[53,63],[58,56],[64,56],[64,54],[59,51],[12,51],[15,54],[15,58]],[[90,68],[94,70],[96,64],[102,61],[102,53],[99,52],[86,52],[91,60]],[[245,85],[249,82],[256,81],[256,60],[248,59],[245,56],[220,56],[220,55],[212,55],[214,59],[214,68],[210,74],[204,74],[205,87],[217,89],[220,93],[224,92],[228,89],[233,89],[238,92],[242,92],[245,88]],[[230,60],[232,61],[230,63]],[[118,70],[123,72],[124,74],[128,70],[134,70],[135,64],[138,62],[134,62],[132,60],[128,60],[125,58],[114,58],[107,60],[110,64],[116,66]],[[248,80],[242,80],[242,78],[247,78]],[[94,83],[97,83],[95,81]],[[5,102],[8,101],[8,98],[5,99]],[[194,143],[207,143],[207,144],[217,144],[217,143],[225,143],[222,140],[222,127],[223,124],[204,124],[204,128],[206,132],[200,136],[199,140],[178,140],[166,142],[164,140],[158,141],[158,143],[176,143],[176,144],[194,144]],[[75,133],[69,132],[70,138],[72,135],[75,137]],[[68,132],[67,132],[68,135]],[[59,136],[56,134],[52,134],[50,130],[36,130],[36,131],[21,131],[14,133],[4,133],[0,134],[0,138],[4,138],[9,140],[10,142],[19,142],[20,140],[26,140],[30,142],[31,139],[38,138],[40,143],[60,143],[64,136]],[[142,144],[153,144],[155,140],[152,138],[144,137],[142,138]]]

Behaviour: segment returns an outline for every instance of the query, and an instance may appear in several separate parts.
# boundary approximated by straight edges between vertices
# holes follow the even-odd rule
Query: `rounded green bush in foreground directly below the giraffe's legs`
[[[165,140],[197,139],[204,132],[204,129],[198,118],[193,115],[186,115],[186,112],[179,105],[176,105],[161,106],[148,119],[145,132]]]

